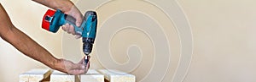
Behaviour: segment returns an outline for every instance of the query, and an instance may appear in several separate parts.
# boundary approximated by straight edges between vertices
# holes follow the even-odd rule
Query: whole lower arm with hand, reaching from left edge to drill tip
[[[4,41],[8,41],[11,45],[15,46],[20,52],[28,57],[44,63],[56,70],[68,74],[83,74],[84,65],[75,64],[65,59],[57,59],[52,56],[44,47],[39,46],[36,41],[33,41],[29,36],[26,36],[22,31],[18,30],[12,24],[8,14],[0,3],[0,37]]]

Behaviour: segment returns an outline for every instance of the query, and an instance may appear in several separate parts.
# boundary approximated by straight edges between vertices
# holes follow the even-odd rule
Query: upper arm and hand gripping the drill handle
[[[83,15],[79,11],[79,9],[70,1],[70,0],[32,0],[37,3],[41,3],[49,8],[60,9],[63,13],[69,14],[76,19],[76,25],[80,26],[82,23]],[[62,30],[67,31],[68,34],[75,35],[73,25],[63,25]],[[77,35],[77,38],[80,36]]]

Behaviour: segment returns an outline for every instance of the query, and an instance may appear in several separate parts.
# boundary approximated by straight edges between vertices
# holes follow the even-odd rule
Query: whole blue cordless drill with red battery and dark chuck
[[[93,43],[96,38],[96,27],[97,27],[97,15],[95,11],[87,11],[84,14],[84,19],[80,26],[75,25],[76,19],[72,16],[63,14],[61,10],[48,10],[44,14],[42,28],[51,32],[59,30],[61,25],[65,24],[73,25],[77,35],[82,36],[83,41],[83,52],[85,54],[84,63],[85,68],[90,67],[89,59],[90,52],[92,50]]]

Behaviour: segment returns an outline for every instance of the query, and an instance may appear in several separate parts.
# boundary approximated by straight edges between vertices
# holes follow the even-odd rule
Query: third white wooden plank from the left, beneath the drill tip
[[[80,82],[104,82],[104,75],[95,69],[89,69],[87,74],[80,75]]]

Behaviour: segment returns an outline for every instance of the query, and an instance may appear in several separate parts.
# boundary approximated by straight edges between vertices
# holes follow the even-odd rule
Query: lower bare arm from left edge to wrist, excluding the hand
[[[36,41],[33,41],[29,36],[18,30],[11,23],[8,14],[0,3],[0,37],[15,46],[20,52],[28,57],[32,57],[39,62],[44,63],[50,68],[54,68],[58,59],[47,52],[44,47],[39,46]]]

